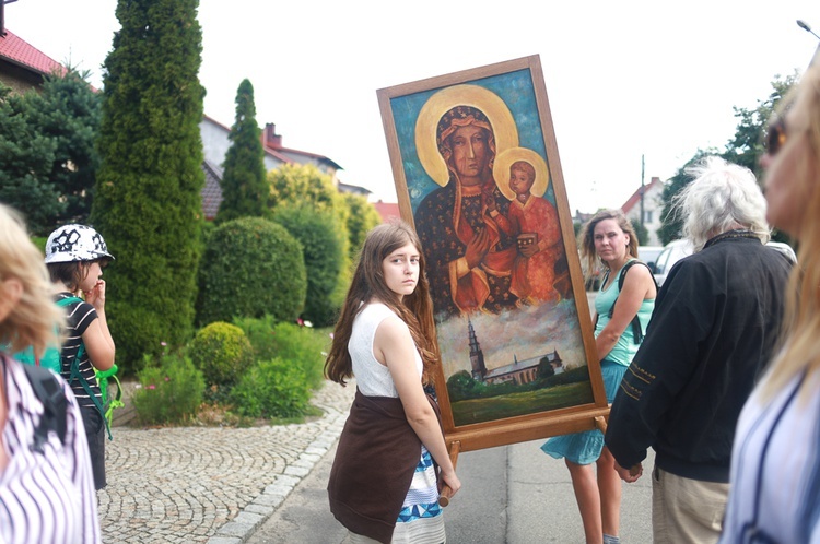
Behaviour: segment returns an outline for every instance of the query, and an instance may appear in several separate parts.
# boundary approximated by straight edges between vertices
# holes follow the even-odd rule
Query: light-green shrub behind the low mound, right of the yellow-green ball
[[[245,331],[254,346],[256,360],[281,358],[302,369],[309,389],[325,381],[325,335],[308,327],[274,323],[270,316],[262,319],[236,319],[234,324]]]

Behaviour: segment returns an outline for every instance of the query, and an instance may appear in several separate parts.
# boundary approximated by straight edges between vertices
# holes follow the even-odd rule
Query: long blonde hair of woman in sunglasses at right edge
[[[799,225],[793,234],[798,239],[797,264],[792,270],[784,312],[785,331],[777,356],[762,385],[763,399],[771,399],[795,376],[820,370],[820,64],[813,64],[799,85],[781,102],[807,120],[805,134],[789,133],[789,140],[780,151],[783,158],[790,146],[807,139],[807,153],[788,158],[797,161],[793,182],[803,203]],[[784,115],[785,111],[780,111]],[[776,157],[775,161],[780,158]],[[803,187],[800,187],[803,186]],[[775,225],[776,226],[776,225]],[[801,398],[816,391],[804,389]]]

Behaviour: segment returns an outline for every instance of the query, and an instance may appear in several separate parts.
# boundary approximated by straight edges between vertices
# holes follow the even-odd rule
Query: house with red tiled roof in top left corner
[[[45,52],[11,31],[0,28],[0,82],[15,93],[37,88],[46,75],[65,71],[62,64]]]

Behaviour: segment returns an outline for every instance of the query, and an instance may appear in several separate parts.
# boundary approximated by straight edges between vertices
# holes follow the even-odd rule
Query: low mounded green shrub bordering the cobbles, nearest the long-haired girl
[[[231,390],[230,399],[247,417],[295,417],[311,407],[304,372],[279,357],[250,367]]]

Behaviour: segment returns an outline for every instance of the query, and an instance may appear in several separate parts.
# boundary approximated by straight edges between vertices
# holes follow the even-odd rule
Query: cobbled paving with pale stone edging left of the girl
[[[332,382],[309,423],[254,428],[116,427],[97,492],[103,542],[241,544],[333,446],[355,383]]]

